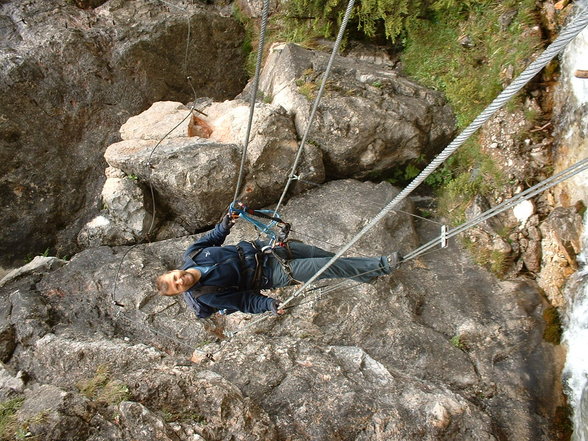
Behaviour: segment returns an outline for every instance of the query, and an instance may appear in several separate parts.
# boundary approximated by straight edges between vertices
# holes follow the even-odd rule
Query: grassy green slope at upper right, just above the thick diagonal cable
[[[454,5],[455,3],[455,5]],[[535,1],[442,0],[407,24],[406,73],[445,94],[465,127],[541,46]]]

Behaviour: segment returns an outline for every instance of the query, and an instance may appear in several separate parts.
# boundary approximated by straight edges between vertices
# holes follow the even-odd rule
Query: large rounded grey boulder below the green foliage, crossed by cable
[[[293,44],[270,50],[260,88],[266,100],[294,114],[299,134],[327,61],[328,54]],[[323,151],[328,177],[362,178],[437,153],[454,130],[438,93],[393,70],[337,57],[308,141]]]

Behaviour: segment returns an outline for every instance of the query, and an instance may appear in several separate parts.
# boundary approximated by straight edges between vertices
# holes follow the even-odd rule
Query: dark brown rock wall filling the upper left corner
[[[246,80],[241,26],[195,4],[3,1],[0,23],[2,263],[75,251],[104,150],[129,116],[164,97],[188,101],[188,75],[216,99]]]

